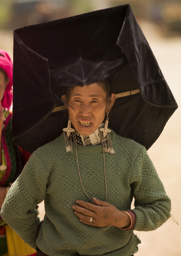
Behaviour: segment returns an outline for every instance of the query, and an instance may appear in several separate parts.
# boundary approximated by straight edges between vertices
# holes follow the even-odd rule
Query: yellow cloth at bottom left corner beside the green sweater
[[[8,256],[36,255],[36,250],[27,245],[19,235],[6,225]]]

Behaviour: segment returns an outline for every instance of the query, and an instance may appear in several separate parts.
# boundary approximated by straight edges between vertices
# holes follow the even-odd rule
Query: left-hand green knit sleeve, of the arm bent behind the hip
[[[36,205],[46,196],[48,177],[45,165],[34,152],[9,189],[1,208],[2,219],[34,249],[36,230],[41,221]]]

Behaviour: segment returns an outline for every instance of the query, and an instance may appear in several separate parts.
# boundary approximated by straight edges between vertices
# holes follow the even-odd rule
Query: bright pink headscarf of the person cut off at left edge
[[[2,98],[2,106],[4,108],[9,109],[12,103],[12,61],[8,53],[2,49],[0,49],[0,53],[4,56],[0,55],[0,68],[2,68],[6,74],[7,77],[10,79],[9,83],[7,84],[7,87],[4,92],[4,97]]]

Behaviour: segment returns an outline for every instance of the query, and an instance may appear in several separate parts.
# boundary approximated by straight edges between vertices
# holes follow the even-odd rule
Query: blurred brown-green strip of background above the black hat
[[[18,27],[127,4],[123,0],[1,0],[0,28]],[[180,0],[130,0],[137,19],[152,22],[163,36],[181,34]]]

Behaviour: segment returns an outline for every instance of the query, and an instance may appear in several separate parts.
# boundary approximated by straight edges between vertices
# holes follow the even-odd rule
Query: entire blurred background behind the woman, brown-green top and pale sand
[[[13,30],[122,4],[130,4],[179,106],[181,106],[181,0],[0,0],[0,48],[13,57]],[[22,70],[23,72],[23,70]],[[159,229],[135,231],[136,256],[181,255],[181,110],[176,110],[148,150],[172,201],[172,215]],[[134,206],[133,206],[134,207]],[[39,215],[44,216],[43,202]]]

